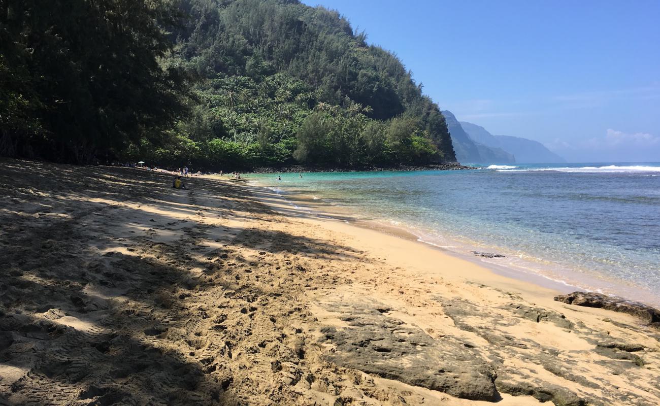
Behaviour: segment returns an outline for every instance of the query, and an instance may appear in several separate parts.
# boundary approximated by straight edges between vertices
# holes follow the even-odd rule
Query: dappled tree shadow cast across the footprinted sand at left
[[[259,283],[217,268],[247,262],[238,255],[242,247],[355,254],[306,236],[225,227],[230,243],[198,255],[190,247],[202,244],[204,228],[152,242],[140,232],[181,218],[147,213],[145,223],[129,219],[139,209],[120,203],[166,204],[194,217],[204,207],[193,191],[205,186],[199,193],[218,193],[207,196],[218,216],[272,212],[237,187],[211,188],[202,179],[189,180],[192,191],[173,191],[171,176],[129,168],[0,165],[7,192],[0,198],[0,403],[241,404],[229,362],[245,334],[232,328],[248,328],[249,319],[227,323],[223,303],[261,300],[266,308],[290,287],[274,283],[267,266]],[[191,304],[195,295],[204,301]]]

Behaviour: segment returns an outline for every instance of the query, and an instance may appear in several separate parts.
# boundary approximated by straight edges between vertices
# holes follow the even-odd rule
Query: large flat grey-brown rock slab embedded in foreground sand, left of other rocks
[[[495,374],[473,345],[454,337],[432,339],[419,327],[385,316],[378,306],[345,306],[347,327],[324,327],[329,360],[382,378],[448,393],[496,401]]]

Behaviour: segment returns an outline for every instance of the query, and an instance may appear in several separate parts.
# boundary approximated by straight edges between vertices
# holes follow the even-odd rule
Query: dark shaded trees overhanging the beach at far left
[[[183,70],[162,65],[179,11],[148,0],[0,3],[0,153],[91,162],[183,117]]]

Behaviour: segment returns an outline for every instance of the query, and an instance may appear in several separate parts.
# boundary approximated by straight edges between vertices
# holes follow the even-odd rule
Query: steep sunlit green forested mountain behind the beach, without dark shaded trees
[[[336,11],[290,0],[185,0],[182,64],[200,103],[180,134],[207,166],[454,161],[438,106]],[[193,158],[194,159],[194,158]]]

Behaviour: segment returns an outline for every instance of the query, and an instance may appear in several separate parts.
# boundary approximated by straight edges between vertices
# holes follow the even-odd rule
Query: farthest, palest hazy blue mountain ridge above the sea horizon
[[[515,156],[515,161],[525,164],[558,164],[566,160],[548,150],[545,145],[522,137],[492,135],[480,125],[460,121],[464,133],[475,142],[491,148],[500,148]],[[451,132],[451,129],[449,129]],[[497,163],[497,162],[494,162]]]

